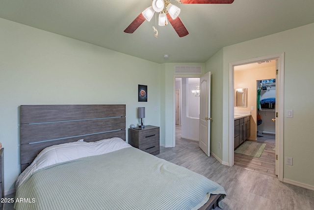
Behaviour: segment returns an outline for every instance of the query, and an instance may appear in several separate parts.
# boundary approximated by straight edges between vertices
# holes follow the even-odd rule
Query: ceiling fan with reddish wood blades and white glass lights
[[[179,18],[181,9],[172,3],[170,0],[153,0],[150,7],[140,13],[134,21],[124,30],[126,33],[133,33],[145,20],[150,21],[155,12],[159,13],[158,25],[165,26],[168,21],[178,33],[180,37],[186,36],[188,31]],[[232,3],[234,0],[176,0],[178,3]],[[155,27],[154,31],[157,31]],[[155,34],[157,37],[158,31]]]

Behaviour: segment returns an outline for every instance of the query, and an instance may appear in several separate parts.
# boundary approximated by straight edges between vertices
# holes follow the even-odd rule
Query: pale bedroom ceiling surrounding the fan
[[[152,0],[0,0],[0,18],[157,63],[205,62],[224,46],[314,23],[314,0],[171,1],[189,31],[182,38],[170,23],[156,38],[155,17],[123,32]]]

